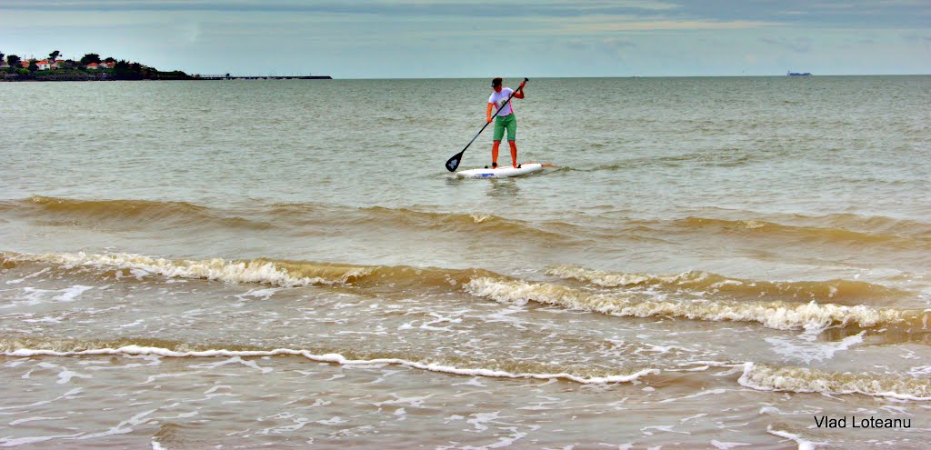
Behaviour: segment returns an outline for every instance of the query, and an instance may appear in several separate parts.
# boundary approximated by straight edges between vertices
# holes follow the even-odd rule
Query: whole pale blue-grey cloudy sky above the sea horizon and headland
[[[337,78],[931,74],[931,0],[2,0],[0,51]]]

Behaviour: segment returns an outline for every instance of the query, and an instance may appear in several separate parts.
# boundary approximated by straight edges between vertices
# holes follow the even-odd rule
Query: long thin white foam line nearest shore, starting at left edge
[[[396,358],[384,358],[376,360],[349,360],[343,355],[336,353],[327,353],[323,355],[317,355],[311,353],[307,350],[297,350],[290,348],[276,348],[273,350],[225,350],[225,349],[216,349],[216,350],[201,350],[201,351],[177,351],[170,350],[168,348],[157,348],[157,347],[142,347],[142,346],[124,346],[120,348],[94,348],[87,350],[78,350],[78,351],[57,351],[57,350],[47,350],[47,349],[30,349],[30,348],[19,348],[16,350],[7,350],[0,355],[9,356],[9,357],[21,357],[28,358],[34,356],[73,356],[73,355],[157,355],[169,358],[213,358],[213,357],[227,357],[227,358],[250,358],[250,357],[262,357],[262,356],[303,356],[304,358],[311,361],[320,361],[320,362],[332,362],[341,365],[347,366],[359,366],[359,365],[372,365],[372,364],[397,364],[406,367],[411,367],[413,369],[426,370],[430,372],[439,372],[444,374],[454,374],[454,375],[472,375],[472,376],[486,376],[494,378],[533,378],[533,379],[565,379],[574,381],[577,383],[584,384],[605,384],[605,383],[627,383],[634,381],[641,376],[646,375],[656,375],[660,371],[657,369],[642,369],[636,373],[628,375],[609,375],[609,376],[593,376],[593,377],[584,377],[566,373],[560,374],[533,374],[533,373],[511,373],[501,370],[493,369],[464,369],[459,367],[452,367],[448,365],[442,365],[437,363],[425,363],[418,361],[408,361],[401,360]],[[223,361],[223,363],[228,363],[230,361]],[[260,368],[261,370],[261,368]],[[263,370],[264,372],[264,370]],[[180,374],[183,375],[183,374]],[[180,376],[178,375],[178,376]],[[150,381],[151,381],[150,377]],[[3,409],[3,408],[0,408]]]

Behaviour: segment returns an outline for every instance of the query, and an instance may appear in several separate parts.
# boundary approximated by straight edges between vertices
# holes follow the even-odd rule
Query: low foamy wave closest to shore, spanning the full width
[[[450,375],[468,375],[497,378],[561,379],[582,384],[634,382],[644,376],[657,380],[688,384],[688,375],[695,371],[659,368],[619,369],[614,373],[586,374],[583,370],[563,370],[543,363],[507,363],[506,361],[428,361],[412,355],[390,352],[330,348],[254,348],[243,346],[191,345],[158,339],[122,338],[115,340],[75,339],[44,340],[26,336],[0,336],[0,355],[11,358],[36,356],[101,356],[101,355],[154,355],[165,358],[261,358],[302,357],[310,361],[330,362],[347,366],[393,364]],[[836,373],[802,367],[774,366],[755,362],[742,364],[716,363],[719,369],[736,368],[741,373],[738,384],[749,389],[818,392],[827,394],[862,394],[909,401],[931,401],[931,383],[928,379],[910,375]],[[740,366],[743,366],[742,371]],[[483,367],[485,366],[485,367]],[[556,369],[556,371],[552,371]],[[698,373],[708,370],[700,367]],[[622,373],[618,373],[622,372]],[[624,373],[626,372],[626,373]],[[733,373],[729,369],[726,375]],[[684,376],[684,378],[683,378]]]

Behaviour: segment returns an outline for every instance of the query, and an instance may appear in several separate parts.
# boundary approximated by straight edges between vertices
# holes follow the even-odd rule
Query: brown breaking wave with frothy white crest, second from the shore
[[[581,309],[614,316],[655,317],[665,316],[689,320],[751,321],[777,330],[823,330],[830,326],[857,326],[871,328],[884,326],[895,333],[928,333],[931,310],[870,307],[865,305],[845,306],[837,303],[818,303],[815,300],[799,301],[735,300],[727,298],[705,298],[649,290],[627,292],[594,292],[575,289],[561,284],[516,280],[494,272],[480,269],[442,269],[413,266],[353,266],[307,261],[275,259],[225,260],[171,260],[130,253],[94,254],[85,252],[20,254],[0,252],[0,266],[7,269],[19,265],[38,265],[46,270],[48,265],[57,265],[58,271],[97,271],[104,277],[141,277],[159,275],[168,278],[220,280],[230,283],[261,283],[280,287],[302,286],[346,286],[360,287],[372,292],[395,293],[405,289],[425,292],[439,289],[444,292],[465,290],[474,296],[489,298],[501,303],[540,304]],[[623,283],[654,283],[671,286],[691,286],[692,289],[708,289],[720,284],[726,289],[749,289],[756,292],[758,286],[749,288],[730,282],[720,276],[711,277],[685,275],[671,278],[652,276],[627,276],[625,274],[599,274],[577,269],[558,269],[552,273],[573,276],[578,279],[598,281],[605,285]],[[691,273],[690,273],[691,274]],[[601,280],[603,279],[603,280]],[[733,280],[731,280],[733,281]],[[798,293],[815,295],[828,292],[831,282],[812,288],[808,285],[765,282],[763,287],[776,293]],[[867,291],[856,282],[852,286]],[[750,283],[753,284],[753,283]],[[843,286],[842,286],[843,287]],[[847,288],[844,288],[847,289]],[[853,289],[853,288],[851,288]],[[878,288],[876,288],[878,289]],[[782,291],[780,291],[782,290]],[[788,291],[787,291],[788,290]],[[821,290],[821,291],[819,291]],[[833,295],[853,295],[843,289]],[[821,297],[819,297],[821,298]]]

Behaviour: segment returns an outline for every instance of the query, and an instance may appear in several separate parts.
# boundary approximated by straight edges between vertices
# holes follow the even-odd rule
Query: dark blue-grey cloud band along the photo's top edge
[[[449,18],[458,20],[573,20],[636,17],[654,28],[734,29],[774,20],[795,25],[843,28],[926,28],[926,0],[783,0],[746,2],[707,0],[4,0],[0,11],[95,13],[207,13],[214,19],[265,14],[292,17],[352,16],[383,20]],[[659,16],[662,15],[662,16]],[[0,22],[3,22],[0,14]],[[663,22],[668,22],[665,26]],[[676,27],[674,23],[680,25]]]

